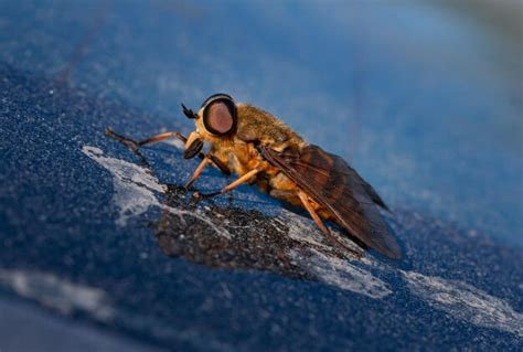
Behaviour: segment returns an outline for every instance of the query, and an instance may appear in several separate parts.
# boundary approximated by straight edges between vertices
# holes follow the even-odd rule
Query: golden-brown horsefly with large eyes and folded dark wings
[[[218,192],[198,195],[212,196],[243,183],[255,184],[271,196],[307,210],[323,235],[346,250],[353,252],[330,233],[323,221],[333,221],[363,246],[391,258],[401,257],[377,209],[387,209],[386,205],[340,157],[307,143],[273,115],[250,105],[237,105],[226,94],[211,96],[198,113],[183,106],[183,113],[196,125],[188,139],[168,132],[139,145],[170,137],[185,141],[184,158],[202,158],[186,188],[207,164],[239,177]],[[211,148],[203,154],[205,142]]]

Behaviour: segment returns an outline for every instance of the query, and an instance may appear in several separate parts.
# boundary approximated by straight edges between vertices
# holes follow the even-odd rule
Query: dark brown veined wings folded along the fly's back
[[[387,257],[401,257],[399,246],[376,206],[386,209],[386,205],[342,158],[317,146],[301,150],[288,148],[282,152],[263,145],[258,149],[353,236]]]

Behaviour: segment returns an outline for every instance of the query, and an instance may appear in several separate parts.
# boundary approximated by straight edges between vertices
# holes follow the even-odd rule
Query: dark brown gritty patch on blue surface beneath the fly
[[[260,269],[309,279],[316,277],[298,257],[314,252],[345,258],[307,231],[299,234],[302,237],[292,236],[292,228],[279,216],[232,204],[196,202],[191,192],[181,186],[168,186],[163,205],[154,235],[168,256],[218,268]]]

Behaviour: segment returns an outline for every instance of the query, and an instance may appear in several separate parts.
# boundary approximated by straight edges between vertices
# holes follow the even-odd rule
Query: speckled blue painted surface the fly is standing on
[[[0,292],[168,349],[521,350],[521,58],[408,2],[3,1]],[[186,134],[179,104],[221,90],[349,160],[406,258],[318,255],[248,188],[191,205],[166,185],[195,161],[104,136]]]

